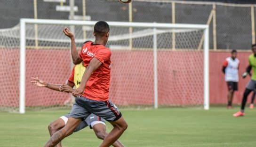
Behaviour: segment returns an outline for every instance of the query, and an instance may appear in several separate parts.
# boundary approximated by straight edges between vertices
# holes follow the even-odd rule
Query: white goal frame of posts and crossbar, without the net
[[[70,21],[46,19],[20,19],[20,85],[19,85],[19,112],[25,113],[26,90],[26,26],[28,24],[67,25],[67,26],[94,26],[95,21]],[[158,34],[157,29],[200,29],[203,30],[203,108],[209,109],[209,27],[203,24],[173,24],[149,22],[108,22],[110,27],[151,28],[153,30],[153,93],[154,108],[158,108]],[[59,32],[62,33],[62,32]],[[202,75],[201,75],[202,76]]]

